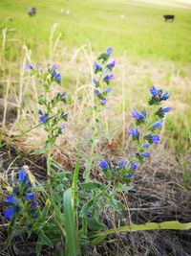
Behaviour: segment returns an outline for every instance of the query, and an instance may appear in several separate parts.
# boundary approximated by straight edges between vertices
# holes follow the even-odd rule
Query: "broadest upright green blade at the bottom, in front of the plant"
[[[78,241],[76,224],[72,206],[72,189],[65,191],[63,196],[65,230],[66,230],[66,255],[76,256],[78,252]]]

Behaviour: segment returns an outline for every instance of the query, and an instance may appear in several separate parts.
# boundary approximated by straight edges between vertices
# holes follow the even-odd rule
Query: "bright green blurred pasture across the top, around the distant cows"
[[[37,9],[32,18],[26,13],[30,6]],[[191,9],[184,7],[127,0],[1,0],[0,22],[11,17],[7,25],[16,28],[16,37],[37,55],[42,50],[47,53],[50,29],[59,23],[62,40],[69,48],[90,40],[96,51],[113,46],[118,55],[126,51],[132,57],[189,63]],[[61,13],[61,9],[71,13]],[[175,14],[175,22],[164,22],[166,13]]]

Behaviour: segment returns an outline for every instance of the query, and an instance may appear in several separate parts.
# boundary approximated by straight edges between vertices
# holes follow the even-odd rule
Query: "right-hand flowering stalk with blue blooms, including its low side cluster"
[[[110,160],[101,159],[99,167],[107,179],[111,180],[117,188],[121,183],[128,184],[136,174],[138,166],[150,157],[149,149],[153,145],[158,145],[160,141],[159,130],[163,124],[163,118],[168,113],[170,107],[159,107],[164,101],[168,100],[169,93],[152,86],[150,89],[151,97],[148,104],[153,107],[148,113],[145,109],[132,111],[134,126],[128,130],[132,140],[137,145],[137,151],[130,161],[118,160],[117,164]]]

